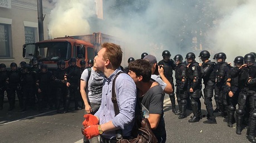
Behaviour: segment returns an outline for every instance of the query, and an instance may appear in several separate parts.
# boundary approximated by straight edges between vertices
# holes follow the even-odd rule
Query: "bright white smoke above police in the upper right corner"
[[[211,42],[215,52],[226,53],[227,60],[233,62],[238,55],[256,51],[256,1],[221,2],[224,15],[212,33]]]

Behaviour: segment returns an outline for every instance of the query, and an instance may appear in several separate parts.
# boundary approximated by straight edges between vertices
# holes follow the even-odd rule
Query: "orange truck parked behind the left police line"
[[[48,69],[56,69],[58,60],[64,60],[68,67],[68,60],[77,58],[77,65],[80,60],[93,59],[101,49],[104,42],[121,44],[120,40],[107,34],[93,33],[87,35],[65,36],[50,40],[42,40],[37,43],[23,45],[23,58],[37,58],[38,62],[47,64]]]

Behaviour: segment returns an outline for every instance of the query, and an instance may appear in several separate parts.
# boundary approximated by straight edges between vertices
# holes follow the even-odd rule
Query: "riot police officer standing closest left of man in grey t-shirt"
[[[65,83],[68,87],[67,90],[67,96],[66,96],[66,103],[65,103],[65,109],[64,109],[64,113],[68,112],[68,108],[70,106],[70,99],[71,96],[74,98],[75,100],[75,110],[81,110],[80,107],[78,107],[78,84],[80,81],[80,77],[81,77],[81,72],[80,72],[80,68],[77,67],[76,65],[76,58],[71,58],[70,59],[70,67],[68,67],[66,69],[66,74],[64,76],[65,79]]]

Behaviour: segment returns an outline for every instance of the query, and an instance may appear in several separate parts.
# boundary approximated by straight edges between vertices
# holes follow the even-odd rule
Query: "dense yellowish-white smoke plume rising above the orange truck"
[[[87,19],[95,15],[93,1],[61,0],[55,2],[48,25],[50,37],[90,34],[90,25]]]

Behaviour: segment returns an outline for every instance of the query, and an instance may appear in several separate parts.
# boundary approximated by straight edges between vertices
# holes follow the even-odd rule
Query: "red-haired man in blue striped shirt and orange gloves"
[[[100,135],[102,142],[115,142],[116,130],[122,130],[123,137],[131,135],[134,126],[136,106],[136,85],[132,78],[122,73],[116,78],[115,92],[120,113],[115,116],[112,103],[112,83],[117,73],[121,72],[122,50],[113,43],[102,44],[102,49],[95,58],[95,68],[105,75],[102,88],[100,109],[95,116],[87,114],[83,125],[87,127],[83,134],[90,139]]]

